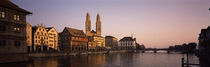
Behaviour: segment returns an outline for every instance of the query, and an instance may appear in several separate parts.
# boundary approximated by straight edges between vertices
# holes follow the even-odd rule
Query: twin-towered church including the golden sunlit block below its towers
[[[96,18],[96,31],[91,31],[90,13],[87,13],[85,22],[86,36],[88,37],[88,50],[103,50],[105,49],[105,38],[101,36],[101,20],[100,15]]]

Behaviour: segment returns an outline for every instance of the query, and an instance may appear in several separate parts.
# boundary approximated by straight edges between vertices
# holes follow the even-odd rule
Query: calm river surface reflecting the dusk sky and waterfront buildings
[[[32,62],[0,64],[0,67],[181,67],[179,53],[110,53],[32,58]],[[199,63],[189,55],[190,63]],[[193,66],[196,67],[196,66]]]

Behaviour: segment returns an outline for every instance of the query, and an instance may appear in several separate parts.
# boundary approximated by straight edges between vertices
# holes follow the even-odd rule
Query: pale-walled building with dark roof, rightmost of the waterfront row
[[[123,37],[119,42],[121,49],[136,49],[136,38]]]

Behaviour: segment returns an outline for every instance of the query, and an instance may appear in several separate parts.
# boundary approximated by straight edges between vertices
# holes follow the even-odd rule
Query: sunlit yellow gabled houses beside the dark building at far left
[[[26,23],[26,44],[28,52],[58,50],[58,33],[53,27]]]

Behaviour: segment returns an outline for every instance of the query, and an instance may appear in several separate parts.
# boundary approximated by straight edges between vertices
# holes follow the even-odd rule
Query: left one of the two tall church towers
[[[85,31],[87,36],[91,36],[91,21],[90,21],[90,13],[87,13],[86,22],[85,22]]]

